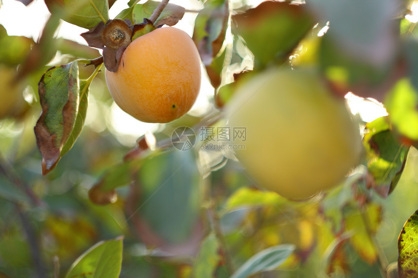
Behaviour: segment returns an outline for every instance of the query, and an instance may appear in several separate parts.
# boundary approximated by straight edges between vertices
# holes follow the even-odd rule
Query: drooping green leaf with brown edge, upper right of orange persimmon
[[[228,21],[229,8],[225,0],[206,1],[205,7],[197,15],[192,39],[204,65],[212,64],[212,59],[221,50]]]

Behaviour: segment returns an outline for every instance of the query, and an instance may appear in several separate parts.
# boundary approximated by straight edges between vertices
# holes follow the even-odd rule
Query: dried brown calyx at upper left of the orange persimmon
[[[128,19],[112,19],[100,22],[95,27],[82,33],[88,46],[103,49],[104,66],[109,71],[116,72],[123,51],[131,43],[132,29]]]

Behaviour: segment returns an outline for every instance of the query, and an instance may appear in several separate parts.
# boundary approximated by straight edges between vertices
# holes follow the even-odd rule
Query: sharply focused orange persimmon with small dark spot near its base
[[[105,70],[110,94],[143,122],[167,123],[191,108],[200,90],[200,56],[192,38],[174,27],[132,41],[116,72]]]

